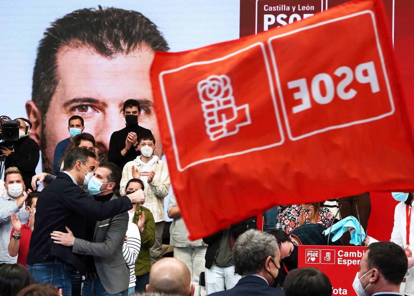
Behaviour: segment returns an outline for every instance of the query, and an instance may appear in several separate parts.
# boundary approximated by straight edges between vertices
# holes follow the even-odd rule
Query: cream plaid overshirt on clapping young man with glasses
[[[138,156],[140,157],[140,156]],[[157,157],[157,156],[154,156]],[[120,194],[125,194],[125,186],[132,179],[132,165],[142,172],[142,165],[135,160],[125,164],[122,170],[122,179],[120,182]],[[152,182],[148,184],[147,198],[145,207],[147,207],[154,216],[155,223],[165,221],[164,197],[170,190],[170,173],[168,172],[167,163],[160,159],[156,160],[151,166],[155,172]]]

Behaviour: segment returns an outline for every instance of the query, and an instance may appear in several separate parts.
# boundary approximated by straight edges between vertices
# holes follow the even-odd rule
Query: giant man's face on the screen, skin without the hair
[[[72,115],[82,116],[87,132],[95,137],[96,149],[106,154],[111,134],[125,127],[122,112],[127,99],[140,102],[140,126],[151,130],[161,143],[149,78],[153,59],[154,51],[148,46],[112,59],[84,47],[59,49],[59,82],[43,119],[44,130],[38,124],[32,131],[34,138],[40,138],[43,168],[51,167],[56,144],[65,138],[66,120]],[[26,109],[31,121],[41,121],[33,101],[27,102]],[[155,154],[162,155],[162,147]]]

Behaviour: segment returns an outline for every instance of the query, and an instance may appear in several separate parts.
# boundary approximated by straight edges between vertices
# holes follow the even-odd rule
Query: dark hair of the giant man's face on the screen
[[[33,71],[32,100],[42,116],[58,85],[56,56],[62,46],[87,47],[107,58],[128,54],[141,46],[154,51],[169,49],[156,25],[137,11],[99,6],[57,19],[40,41]]]

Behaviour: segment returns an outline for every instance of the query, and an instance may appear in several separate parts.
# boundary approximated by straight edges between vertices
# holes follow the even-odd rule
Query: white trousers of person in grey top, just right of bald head
[[[181,260],[190,269],[191,281],[195,286],[194,295],[198,295],[200,273],[205,269],[205,255],[207,247],[174,247],[174,258]],[[201,295],[206,294],[205,287],[201,287]]]

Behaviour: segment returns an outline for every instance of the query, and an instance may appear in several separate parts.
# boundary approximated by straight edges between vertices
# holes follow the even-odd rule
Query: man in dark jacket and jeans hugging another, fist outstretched
[[[50,234],[65,232],[68,227],[75,237],[85,239],[87,218],[102,221],[132,209],[132,202],[145,201],[142,190],[105,203],[86,194],[78,185],[88,186],[94,175],[95,157],[87,149],[72,148],[65,156],[63,172],[43,189],[36,204],[27,267],[36,283],[57,286],[64,296],[71,295],[72,268],[80,272],[85,269],[85,256],[72,252],[72,247],[53,243]]]

